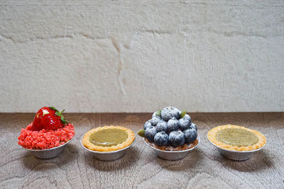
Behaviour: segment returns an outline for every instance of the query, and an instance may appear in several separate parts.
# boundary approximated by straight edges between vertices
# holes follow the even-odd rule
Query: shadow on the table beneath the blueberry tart
[[[175,161],[160,159],[157,156],[157,163],[161,168],[165,168],[169,171],[184,171],[197,167],[202,159],[202,151],[200,149],[194,149],[194,151],[187,154],[184,159]]]

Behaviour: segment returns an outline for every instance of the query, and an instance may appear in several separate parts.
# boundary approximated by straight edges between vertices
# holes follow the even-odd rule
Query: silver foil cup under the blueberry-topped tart
[[[199,135],[197,136],[197,139],[198,139],[198,143],[196,144],[195,147],[192,147],[191,149],[180,150],[180,151],[165,151],[165,150],[156,149],[155,147],[152,147],[150,144],[148,144],[145,139],[143,139],[143,140],[144,140],[145,144],[148,147],[151,147],[151,149],[153,149],[155,154],[157,154],[158,157],[160,157],[161,159],[179,160],[179,159],[185,158],[185,156],[187,156],[187,154],[189,154],[190,151],[195,149],[198,146],[198,144],[200,144],[200,136]]]

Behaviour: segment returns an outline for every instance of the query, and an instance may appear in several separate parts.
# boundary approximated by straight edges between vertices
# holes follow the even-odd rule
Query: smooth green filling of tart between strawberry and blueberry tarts
[[[99,147],[111,147],[125,142],[127,137],[127,133],[123,130],[99,130],[91,135],[89,142]]]

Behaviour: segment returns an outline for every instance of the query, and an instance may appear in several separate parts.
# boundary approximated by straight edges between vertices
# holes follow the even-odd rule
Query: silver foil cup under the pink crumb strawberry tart
[[[72,137],[73,139],[74,137]],[[62,153],[66,147],[66,145],[71,142],[70,139],[68,142],[66,142],[65,144],[60,145],[59,147],[53,147],[51,149],[26,149],[24,147],[22,147],[21,145],[19,145],[20,147],[22,147],[23,149],[26,149],[26,151],[30,151],[33,156],[39,158],[39,159],[50,159],[50,158],[54,158],[56,156],[58,156],[60,153]]]

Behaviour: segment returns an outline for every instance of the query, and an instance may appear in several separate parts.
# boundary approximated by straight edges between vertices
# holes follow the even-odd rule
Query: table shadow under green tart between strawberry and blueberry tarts
[[[94,158],[94,155],[92,153],[87,152],[84,155],[84,160],[87,165],[96,168],[99,171],[119,170],[129,167],[132,164],[135,164],[136,161],[138,161],[138,149],[135,146],[130,147],[129,149],[127,149],[124,156],[114,161],[100,161]]]

